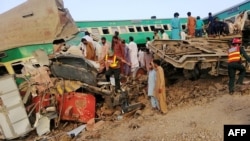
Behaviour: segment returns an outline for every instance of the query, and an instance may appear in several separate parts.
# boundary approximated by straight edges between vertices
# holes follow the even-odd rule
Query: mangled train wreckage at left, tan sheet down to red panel
[[[136,97],[143,94],[145,77],[124,77],[124,92],[114,93],[114,86],[101,82],[102,75],[90,61],[73,55],[48,59],[53,40],[76,43],[82,37],[62,0],[28,0],[1,14],[1,19],[5,20],[0,31],[5,34],[0,35],[0,51],[4,51],[0,64],[7,66],[10,74],[15,71],[9,67],[13,61],[23,65],[22,74],[0,77],[3,139],[14,139],[34,129],[41,136],[50,132],[50,121],[57,127],[61,120],[86,123],[96,117],[104,119],[105,110],[115,106],[125,113],[142,107]],[[29,56],[32,52],[36,59]],[[16,60],[11,60],[13,57]],[[145,73],[142,69],[137,72]],[[18,77],[26,80],[19,86],[15,82]]]

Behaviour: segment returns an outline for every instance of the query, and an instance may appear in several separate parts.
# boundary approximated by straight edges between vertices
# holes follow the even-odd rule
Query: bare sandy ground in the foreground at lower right
[[[108,123],[96,140],[222,141],[224,124],[250,124],[249,100],[250,95],[223,95],[210,103],[173,109],[166,115],[149,112],[137,119]]]

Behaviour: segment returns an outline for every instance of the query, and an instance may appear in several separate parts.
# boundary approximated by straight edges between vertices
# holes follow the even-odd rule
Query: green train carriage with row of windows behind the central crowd
[[[180,18],[181,25],[185,29],[187,19]],[[155,29],[164,29],[171,37],[171,18],[169,19],[143,19],[143,20],[117,20],[117,21],[76,21],[81,31],[88,31],[94,36],[106,37],[109,42],[115,31],[128,42],[129,36],[133,36],[139,46],[145,46],[146,37],[152,39]]]

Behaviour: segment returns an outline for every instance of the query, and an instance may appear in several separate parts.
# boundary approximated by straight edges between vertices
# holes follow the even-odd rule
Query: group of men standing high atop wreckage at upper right
[[[212,13],[208,13],[208,23],[200,19],[200,16],[196,18],[191,15],[191,12],[187,12],[187,27],[182,27],[179,19],[179,13],[174,13],[174,18],[171,20],[171,39],[185,39],[185,34],[188,37],[202,37],[202,36],[219,36],[239,33],[244,25],[245,11],[239,13],[234,21],[232,19],[219,19],[213,17]]]

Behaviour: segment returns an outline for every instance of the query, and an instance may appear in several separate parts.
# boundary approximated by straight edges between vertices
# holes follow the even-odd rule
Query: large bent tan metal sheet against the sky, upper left
[[[78,32],[62,0],[27,0],[0,14],[0,51],[31,44],[68,40]],[[48,20],[53,19],[53,20]]]

